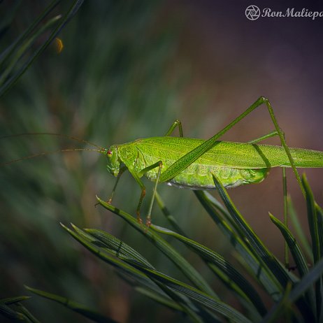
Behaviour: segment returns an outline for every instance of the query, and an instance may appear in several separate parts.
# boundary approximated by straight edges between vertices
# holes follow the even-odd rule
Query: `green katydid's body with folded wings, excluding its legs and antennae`
[[[203,143],[202,139],[182,137],[152,137],[117,145],[117,155],[127,168],[139,172],[158,161],[161,174],[180,157]],[[323,167],[323,153],[315,150],[290,148],[296,167]],[[287,154],[281,146],[256,145],[217,141],[208,150],[168,180],[169,185],[191,189],[214,189],[212,173],[224,187],[261,182],[272,167],[290,167]],[[157,178],[158,168],[145,173],[150,180]]]

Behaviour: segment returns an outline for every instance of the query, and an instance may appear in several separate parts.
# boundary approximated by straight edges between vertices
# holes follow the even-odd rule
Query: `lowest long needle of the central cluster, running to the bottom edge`
[[[163,284],[155,280],[152,280],[151,278],[148,278],[147,275],[141,273],[141,271],[138,271],[136,268],[134,268],[132,264],[134,263],[138,264],[138,261],[131,261],[127,257],[123,258],[122,260],[124,261],[128,260],[128,263],[131,263],[129,265],[128,263],[124,263],[124,261],[122,260],[118,260],[113,257],[110,257],[108,254],[102,252],[100,247],[97,247],[92,243],[93,237],[88,238],[87,237],[88,234],[86,232],[83,231],[82,235],[80,235],[77,232],[71,231],[71,229],[65,227],[63,224],[62,224],[62,227],[66,229],[66,231],[68,231],[69,234],[71,234],[71,236],[73,236],[73,238],[76,239],[76,241],[78,241],[84,247],[86,247],[87,250],[89,250],[90,252],[92,252],[93,254],[95,254],[97,257],[107,262],[108,264],[114,266],[115,268],[117,268],[117,270],[121,271],[125,275],[129,275],[129,277],[136,280],[140,284],[143,284],[154,290],[155,290],[154,288],[155,285],[157,285],[157,287],[159,287],[161,291],[163,291],[166,295],[170,296],[171,299],[173,299],[176,303],[178,303],[178,305],[182,308],[182,311],[186,313],[189,317],[191,317],[193,322],[199,322],[199,323],[201,322],[201,320],[199,319],[199,316],[196,315],[195,313],[195,306],[192,306],[190,301],[187,301],[187,299],[182,297],[182,295],[179,295],[178,293],[175,293],[172,290],[168,289],[168,287],[164,286]],[[74,229],[76,228],[75,226],[73,227]],[[80,231],[82,230],[78,229],[78,232]],[[116,255],[116,253],[113,252],[113,255]],[[120,254],[119,254],[119,257],[121,257]],[[146,264],[144,264],[144,266],[146,266]],[[155,284],[153,284],[153,282],[155,282]],[[157,292],[160,292],[160,291],[157,290]]]

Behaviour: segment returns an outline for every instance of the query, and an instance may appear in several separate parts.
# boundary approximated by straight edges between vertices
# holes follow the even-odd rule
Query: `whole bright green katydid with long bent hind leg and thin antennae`
[[[275,131],[249,143],[218,140],[231,127],[234,127],[235,124],[261,105],[268,109]],[[179,129],[180,137],[170,136],[176,127]],[[256,144],[271,136],[279,136],[282,145]],[[87,141],[83,142],[88,143]],[[117,177],[113,192],[108,200],[109,203],[113,199],[117,183],[124,171],[129,171],[141,187],[141,196],[136,208],[139,222],[141,222],[141,204],[145,196],[145,185],[141,178],[145,175],[155,182],[146,218],[148,226],[151,223],[152,205],[155,200],[157,185],[161,182],[167,182],[168,185],[175,185],[180,188],[215,189],[214,174],[224,187],[237,187],[261,182],[266,178],[270,168],[292,167],[304,194],[296,168],[323,167],[323,152],[287,146],[271,103],[263,96],[230,122],[227,127],[224,127],[208,140],[185,138],[182,134],[182,124],[175,120],[166,135],[162,137],[137,139],[130,143],[112,145],[108,149],[95,146],[99,149],[93,149],[94,151],[106,155],[109,173]],[[45,155],[45,152],[38,155]],[[24,159],[26,158],[30,157],[24,157]]]

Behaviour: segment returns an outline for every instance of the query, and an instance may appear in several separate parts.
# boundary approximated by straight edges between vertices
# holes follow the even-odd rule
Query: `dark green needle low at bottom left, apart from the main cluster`
[[[66,299],[66,297],[58,296],[56,294],[51,294],[48,292],[43,292],[39,289],[34,289],[28,286],[25,286],[26,289],[28,289],[30,292],[45,297],[45,299],[50,299],[52,301],[55,301],[59,304],[62,304],[66,306],[66,308],[69,308],[70,310],[73,310],[76,313],[79,313],[80,315],[89,318],[90,320],[93,320],[94,322],[99,323],[116,323],[114,320],[105,317],[104,315],[101,315],[99,313],[94,312],[94,310],[90,310],[89,308],[86,308],[85,306],[82,306],[80,303],[76,303],[75,301],[71,301],[70,299]]]

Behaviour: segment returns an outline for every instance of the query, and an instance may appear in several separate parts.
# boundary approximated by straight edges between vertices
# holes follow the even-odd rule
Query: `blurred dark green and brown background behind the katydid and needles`
[[[1,19],[10,2],[1,1]],[[1,36],[1,50],[46,3],[22,1]],[[323,150],[323,17],[250,21],[245,8],[251,4],[282,11],[323,10],[319,1],[85,1],[59,34],[62,52],[51,45],[1,98],[1,136],[55,132],[106,147],[163,135],[177,118],[185,136],[209,138],[264,95],[271,100],[287,144]],[[262,108],[224,138],[249,141],[271,130],[273,124]],[[273,138],[268,143],[279,141]],[[0,162],[76,147],[85,145],[48,136],[6,138],[1,139]],[[69,152],[1,166],[0,297],[27,294],[26,284],[67,296],[119,322],[180,322],[182,317],[134,292],[59,226],[73,222],[104,229],[159,270],[180,278],[143,236],[95,207],[95,195],[108,197],[115,182],[105,162],[94,152]],[[300,189],[287,173],[289,192],[306,228]],[[322,202],[323,171],[309,169],[306,174]],[[152,183],[145,183],[150,192]],[[228,241],[192,192],[166,185],[160,185],[159,192],[192,238],[233,257]],[[124,174],[113,204],[133,214],[139,194],[136,182]],[[268,219],[268,211],[282,218],[281,171],[273,169],[264,182],[231,189],[229,194],[269,249],[283,259],[280,233]],[[167,225],[157,207],[152,221]],[[198,259],[171,243],[208,278]],[[210,283],[230,301],[222,285],[214,279]],[[36,296],[27,306],[44,322],[76,317]]]

